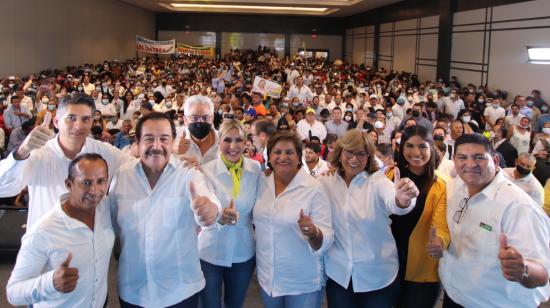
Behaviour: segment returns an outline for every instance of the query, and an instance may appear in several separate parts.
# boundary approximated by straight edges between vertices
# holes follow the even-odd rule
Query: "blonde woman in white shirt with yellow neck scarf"
[[[255,267],[252,208],[261,167],[243,156],[246,131],[238,120],[219,130],[218,157],[201,167],[210,189],[225,206],[218,228],[199,233],[199,255],[206,286],[202,307],[242,307]]]

